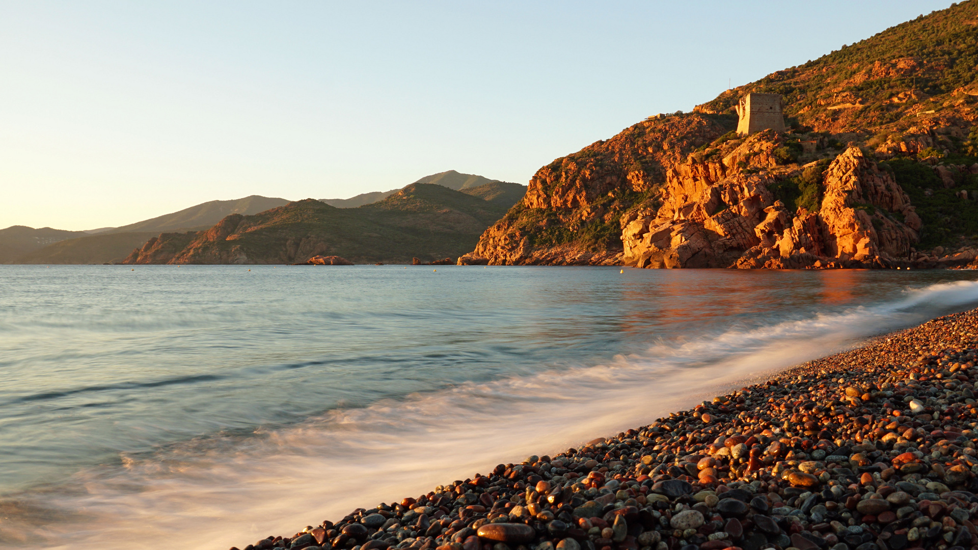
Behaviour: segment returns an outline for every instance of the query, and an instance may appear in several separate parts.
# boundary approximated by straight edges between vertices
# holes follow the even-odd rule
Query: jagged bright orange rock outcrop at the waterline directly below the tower
[[[793,209],[777,190],[805,168],[779,167],[771,137],[756,134],[721,160],[690,159],[672,170],[655,215],[625,226],[624,263],[778,269],[907,263],[897,258],[910,255],[920,219],[891,174],[851,147],[819,176],[820,206]],[[750,152],[756,155],[748,163],[737,160]]]

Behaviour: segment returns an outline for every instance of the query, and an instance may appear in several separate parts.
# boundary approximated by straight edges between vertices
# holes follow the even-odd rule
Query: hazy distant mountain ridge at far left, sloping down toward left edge
[[[209,201],[197,206],[138,221],[122,227],[100,228],[91,231],[60,231],[60,238],[44,239],[43,245],[20,253],[4,255],[0,248],[0,261],[4,263],[112,263],[121,261],[133,247],[142,247],[161,231],[188,231],[206,229],[228,214],[253,214],[289,201],[251,195],[232,201]],[[15,226],[17,227],[17,226]],[[13,228],[10,228],[13,229]],[[29,228],[25,228],[29,229]],[[7,231],[6,229],[3,231]],[[44,231],[44,230],[31,230]],[[13,237],[0,232],[0,243],[10,246]]]

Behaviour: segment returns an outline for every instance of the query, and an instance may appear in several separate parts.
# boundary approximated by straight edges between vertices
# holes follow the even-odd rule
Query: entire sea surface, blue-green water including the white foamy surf
[[[244,546],[978,306],[976,281],[0,266],[0,546]]]

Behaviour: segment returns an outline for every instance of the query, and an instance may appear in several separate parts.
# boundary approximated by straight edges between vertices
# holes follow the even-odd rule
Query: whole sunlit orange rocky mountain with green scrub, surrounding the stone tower
[[[650,116],[540,168],[465,259],[956,262],[978,247],[976,27],[978,2],[958,3],[725,91],[693,113]],[[736,134],[736,106],[750,93],[781,96],[787,131]]]

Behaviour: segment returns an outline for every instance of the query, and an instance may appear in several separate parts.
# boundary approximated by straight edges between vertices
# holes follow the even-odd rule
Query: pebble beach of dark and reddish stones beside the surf
[[[978,309],[244,550],[967,550]],[[237,547],[232,547],[235,550]]]

